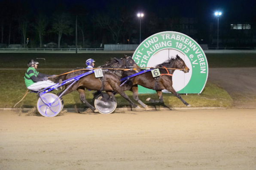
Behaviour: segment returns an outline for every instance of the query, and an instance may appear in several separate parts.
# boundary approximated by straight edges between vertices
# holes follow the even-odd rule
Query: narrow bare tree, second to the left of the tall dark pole
[[[46,27],[48,25],[47,17],[43,14],[39,14],[35,19],[33,27],[37,30],[40,39],[40,48],[42,48],[43,36],[46,33]]]

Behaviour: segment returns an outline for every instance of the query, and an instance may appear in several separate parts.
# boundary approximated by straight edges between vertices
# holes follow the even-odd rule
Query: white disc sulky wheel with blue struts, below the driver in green
[[[41,95],[40,98],[38,98],[37,100],[37,110],[38,112],[45,117],[54,117],[57,116],[58,113],[61,112],[61,110],[63,109],[63,100],[61,98],[58,98],[56,100],[56,98],[58,98],[58,95],[55,95],[53,93],[46,93]],[[48,107],[46,104],[52,103],[51,107]]]

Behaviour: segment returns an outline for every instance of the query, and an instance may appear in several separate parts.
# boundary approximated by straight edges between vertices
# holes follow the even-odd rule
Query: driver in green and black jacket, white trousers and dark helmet
[[[39,91],[40,89],[55,85],[55,83],[48,80],[47,77],[55,78],[56,75],[44,75],[37,72],[37,64],[39,63],[33,59],[30,60],[27,64],[28,69],[24,76],[27,89],[32,91]]]

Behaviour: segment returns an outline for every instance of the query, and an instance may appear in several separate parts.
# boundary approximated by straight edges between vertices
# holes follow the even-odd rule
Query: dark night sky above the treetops
[[[3,0],[0,0],[3,1]],[[17,2],[17,0],[11,0]],[[250,21],[256,17],[256,0],[21,0],[30,4],[33,13],[43,11],[51,15],[58,4],[66,9],[83,6],[88,14],[95,11],[108,12],[111,7],[125,6],[135,12],[154,13],[159,17],[180,15],[182,17],[198,17],[213,19],[216,10],[222,11],[222,18],[236,21]],[[134,14],[136,15],[136,14]]]

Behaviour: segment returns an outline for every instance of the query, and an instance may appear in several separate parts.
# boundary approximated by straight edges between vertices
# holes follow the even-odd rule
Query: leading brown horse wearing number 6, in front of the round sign
[[[153,89],[157,92],[157,95],[159,96],[159,100],[153,100],[151,98],[147,98],[146,101],[151,101],[152,103],[160,103],[163,102],[163,95],[162,95],[162,89],[167,89],[169,92],[174,94],[177,98],[179,98],[187,107],[191,107],[190,104],[188,104],[186,101],[181,98],[181,96],[174,90],[172,87],[172,75],[175,71],[175,69],[182,69],[183,72],[188,73],[189,68],[186,66],[185,62],[176,55],[176,58],[171,58],[167,61],[165,61],[162,64],[158,64],[155,67],[165,67],[166,69],[159,69],[161,76],[157,78],[153,78],[151,72],[146,72],[141,75],[137,75],[134,78],[131,78],[129,81],[127,81],[123,86],[122,89],[124,91],[130,90],[133,92],[133,98],[138,101],[144,108],[147,107],[146,104],[144,104],[140,99],[138,98],[138,86],[143,86],[148,89]],[[172,68],[172,69],[168,69]],[[133,75],[134,71],[127,71],[124,72],[122,75],[122,78],[128,77],[130,75]]]

